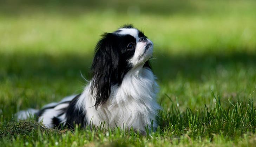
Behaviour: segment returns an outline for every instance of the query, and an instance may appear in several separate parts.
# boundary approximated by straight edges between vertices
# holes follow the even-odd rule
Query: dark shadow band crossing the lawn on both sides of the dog
[[[90,79],[89,73],[92,55],[63,54],[51,56],[47,54],[0,54],[0,80],[8,76],[29,78],[44,76],[45,78],[75,78],[80,72]],[[256,54],[234,52],[230,54],[202,54],[197,56],[165,56],[157,54],[152,60],[154,73],[160,82],[176,79],[177,76],[188,80],[200,80],[202,76],[215,73],[221,67],[226,70],[240,68],[256,68]]]

